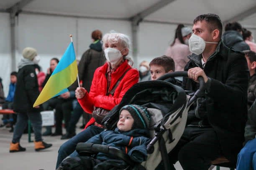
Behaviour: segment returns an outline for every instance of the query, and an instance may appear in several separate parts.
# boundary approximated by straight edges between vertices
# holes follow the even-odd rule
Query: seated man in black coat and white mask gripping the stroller
[[[184,170],[208,170],[220,156],[236,163],[244,140],[249,72],[244,55],[223,45],[218,15],[199,15],[193,32],[192,55],[184,69],[190,79],[183,85],[197,90],[197,78],[202,76],[206,89],[189,112],[182,138],[169,158],[172,163],[179,160]]]

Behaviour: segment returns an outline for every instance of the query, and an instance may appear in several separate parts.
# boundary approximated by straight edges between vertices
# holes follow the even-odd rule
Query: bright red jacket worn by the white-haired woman
[[[130,69],[131,66],[128,65],[127,60],[125,60],[116,70],[111,73],[111,82],[110,82],[110,90],[115,87],[115,84],[119,80],[119,78],[123,75],[123,73]],[[92,85],[90,92],[86,92],[82,99],[78,99],[83,110],[87,113],[92,113],[94,106],[102,107],[107,110],[111,110],[115,105],[118,105],[125,92],[129,90],[134,84],[136,84],[139,80],[138,70],[132,68],[128,72],[126,72],[125,76],[120,81],[118,87],[115,89],[115,93],[112,96],[111,94],[106,95],[107,93],[107,78],[106,72],[108,70],[108,63],[106,62],[103,66],[98,67],[92,79]],[[92,125],[95,122],[92,117],[91,120],[86,124],[85,128],[89,125]]]

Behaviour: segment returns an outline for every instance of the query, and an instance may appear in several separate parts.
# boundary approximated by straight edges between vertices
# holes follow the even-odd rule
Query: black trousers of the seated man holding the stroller
[[[169,161],[175,164],[177,161],[183,170],[208,170],[211,160],[220,157],[221,147],[217,134],[213,128],[200,128],[188,126],[175,146],[168,154]],[[171,170],[175,170],[171,165]],[[159,164],[156,170],[163,170],[163,164]]]

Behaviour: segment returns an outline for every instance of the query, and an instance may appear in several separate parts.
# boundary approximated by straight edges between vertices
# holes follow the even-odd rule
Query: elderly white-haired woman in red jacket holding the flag
[[[68,155],[73,153],[77,143],[86,142],[92,136],[100,134],[104,128],[100,125],[101,119],[95,112],[108,112],[122,100],[125,92],[138,82],[138,70],[132,68],[129,57],[130,40],[121,33],[108,33],[102,38],[103,49],[107,62],[95,70],[90,92],[78,87],[76,97],[87,113],[92,113],[92,119],[85,129],[65,142],[59,148],[56,168]]]

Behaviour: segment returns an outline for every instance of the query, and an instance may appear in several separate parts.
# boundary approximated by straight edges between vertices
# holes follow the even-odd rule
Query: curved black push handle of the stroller
[[[159,77],[157,80],[166,80],[167,78],[170,77],[188,77],[187,71],[174,71],[174,72],[169,72],[166,73],[165,75]],[[205,81],[202,76],[198,77],[199,81],[199,89],[195,92],[194,96],[190,98],[188,105],[191,105],[196,99],[197,96],[202,94],[202,92],[205,90]]]

